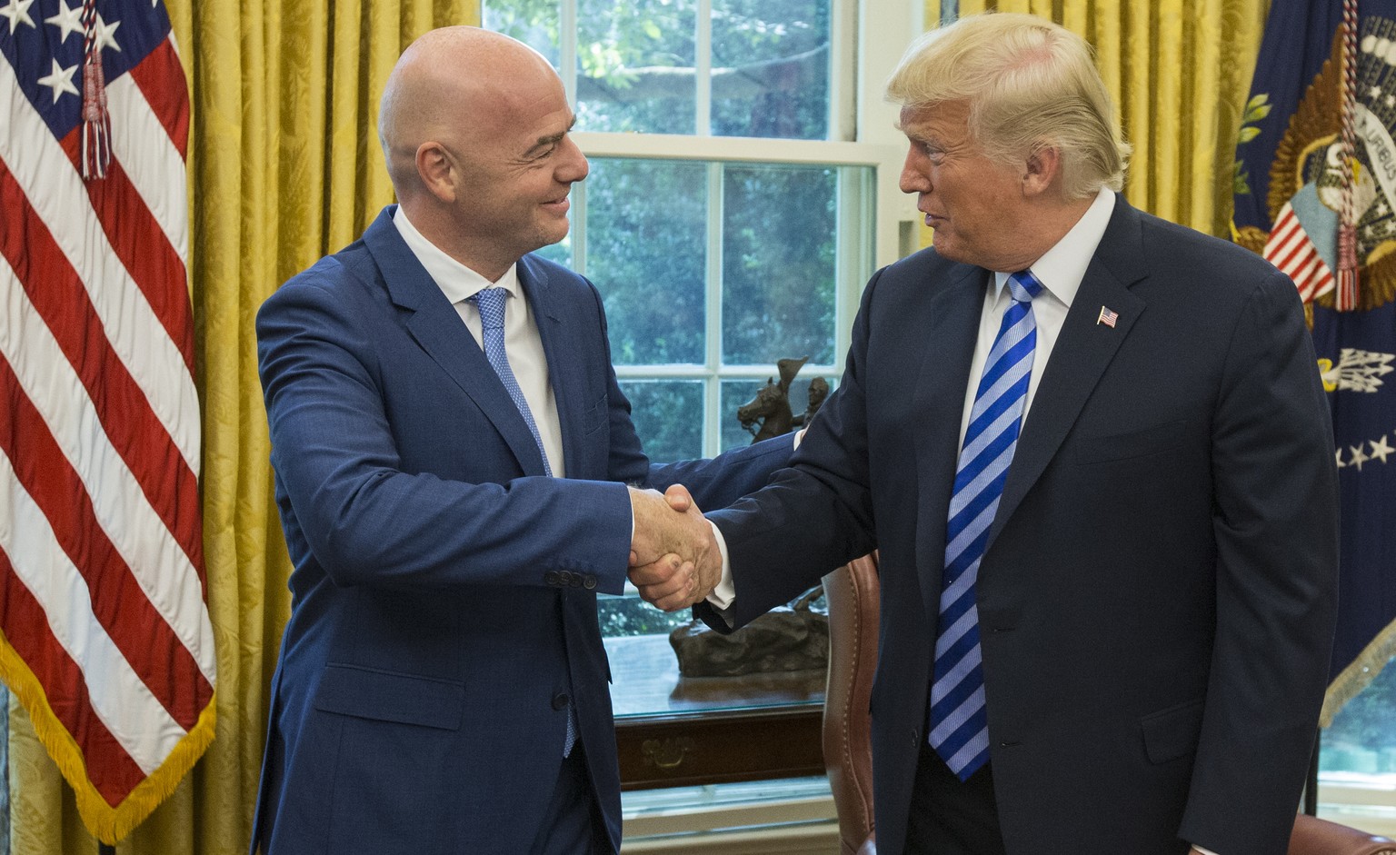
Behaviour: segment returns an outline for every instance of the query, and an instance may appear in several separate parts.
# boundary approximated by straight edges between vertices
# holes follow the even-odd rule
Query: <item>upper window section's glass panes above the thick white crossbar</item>
[[[832,0],[486,0],[585,131],[828,139]]]

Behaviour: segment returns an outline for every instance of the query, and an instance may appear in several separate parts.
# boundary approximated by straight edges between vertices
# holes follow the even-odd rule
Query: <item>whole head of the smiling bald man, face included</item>
[[[378,137],[399,213],[456,261],[498,279],[567,237],[586,177],[563,81],[537,52],[475,27],[434,29],[398,60]]]

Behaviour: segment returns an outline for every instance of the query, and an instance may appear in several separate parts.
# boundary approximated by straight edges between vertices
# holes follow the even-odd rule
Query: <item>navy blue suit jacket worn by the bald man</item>
[[[253,831],[271,855],[529,851],[570,695],[620,842],[596,593],[620,593],[625,484],[722,506],[790,437],[651,466],[591,282],[519,262],[567,478],[385,209],[257,318],[276,502],[295,570]]]

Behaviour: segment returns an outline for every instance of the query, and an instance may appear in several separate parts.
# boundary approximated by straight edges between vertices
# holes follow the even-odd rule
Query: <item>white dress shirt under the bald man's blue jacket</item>
[[[398,227],[402,240],[436,280],[445,298],[455,305],[456,314],[465,321],[465,328],[470,331],[475,343],[482,349],[484,345],[480,310],[470,301],[470,297],[487,287],[501,287],[508,292],[510,298],[504,301],[504,350],[510,356],[510,368],[519,382],[519,389],[524,391],[524,400],[528,402],[529,411],[533,413],[537,435],[543,441],[543,451],[547,453],[547,464],[553,469],[553,476],[565,477],[567,462],[563,459],[563,425],[557,418],[557,399],[547,378],[543,339],[537,335],[537,324],[535,324],[533,312],[524,297],[524,283],[519,282],[518,265],[510,265],[498,282],[490,282],[423,237],[408,220],[408,215],[401,206],[392,216],[392,225]]]

